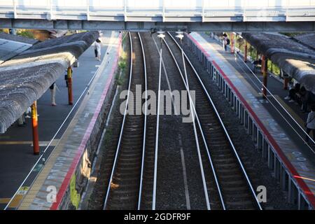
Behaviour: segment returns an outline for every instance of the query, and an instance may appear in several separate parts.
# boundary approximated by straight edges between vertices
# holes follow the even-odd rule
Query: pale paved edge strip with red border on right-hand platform
[[[295,142],[293,139],[290,139],[279,125],[279,121],[274,120],[274,117],[262,106],[263,102],[254,97],[253,93],[244,85],[246,81],[235,78],[232,66],[228,66],[222,58],[221,45],[218,45],[210,38],[206,41],[200,34],[194,32],[189,35],[189,38],[193,41],[193,44],[197,45],[197,48],[213,59],[212,63],[215,64],[229,85],[237,91],[241,102],[248,111],[251,111],[251,116],[258,123],[257,125],[265,134],[265,138],[269,141],[269,144],[272,145],[272,150],[275,151],[280,160],[286,165],[290,176],[294,178],[298,184],[298,188],[301,189],[303,195],[307,197],[311,206],[314,207],[315,183],[313,180],[315,179],[315,169],[308,156],[310,153],[309,149],[306,146],[304,147],[302,141]]]

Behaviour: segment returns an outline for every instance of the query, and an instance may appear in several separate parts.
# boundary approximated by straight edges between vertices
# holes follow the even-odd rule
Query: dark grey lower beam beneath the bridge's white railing
[[[315,22],[123,22],[87,20],[0,19],[0,28],[129,31],[286,31],[314,32]]]

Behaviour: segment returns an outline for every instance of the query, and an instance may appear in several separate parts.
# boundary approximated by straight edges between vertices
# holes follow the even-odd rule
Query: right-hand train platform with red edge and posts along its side
[[[288,191],[290,202],[299,208],[314,209],[314,147],[304,144],[304,132],[298,127],[304,127],[307,114],[284,99],[288,90],[282,89],[283,84],[276,77],[269,76],[267,83],[273,97],[269,94],[267,100],[263,99],[260,73],[258,80],[251,73],[249,62],[245,64],[241,57],[235,57],[229,50],[225,52],[216,39],[193,32],[188,40],[248,134],[253,136],[275,178]]]

